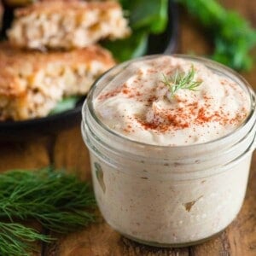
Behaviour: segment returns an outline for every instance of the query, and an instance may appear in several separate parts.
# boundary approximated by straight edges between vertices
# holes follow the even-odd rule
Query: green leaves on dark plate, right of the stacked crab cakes
[[[164,32],[168,20],[167,0],[119,0],[128,14],[131,36],[122,40],[104,41],[116,60],[122,62],[145,55],[150,33]]]

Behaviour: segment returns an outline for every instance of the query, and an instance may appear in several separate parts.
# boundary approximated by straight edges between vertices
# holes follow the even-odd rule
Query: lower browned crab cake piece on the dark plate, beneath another
[[[64,96],[86,94],[114,64],[98,45],[43,53],[0,44],[0,119],[44,117]]]

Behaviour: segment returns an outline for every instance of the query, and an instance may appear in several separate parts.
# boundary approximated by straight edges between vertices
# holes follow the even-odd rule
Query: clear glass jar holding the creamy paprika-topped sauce
[[[159,247],[204,241],[236,218],[256,144],[255,93],[247,82],[216,62],[177,56],[203,63],[247,93],[251,110],[236,131],[208,143],[166,147],[137,143],[109,130],[97,118],[93,101],[127,62],[96,81],[82,110],[82,134],[103,217],[124,236]]]

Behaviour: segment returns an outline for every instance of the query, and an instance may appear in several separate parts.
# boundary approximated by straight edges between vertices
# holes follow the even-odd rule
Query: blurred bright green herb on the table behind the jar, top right
[[[215,0],[177,0],[195,15],[212,35],[215,49],[212,59],[236,70],[249,70],[250,50],[256,46],[256,30],[237,12],[224,9]]]

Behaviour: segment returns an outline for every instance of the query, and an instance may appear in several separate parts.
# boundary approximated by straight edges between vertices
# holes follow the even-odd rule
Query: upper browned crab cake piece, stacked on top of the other
[[[46,1],[15,11],[12,44],[28,49],[73,49],[103,38],[125,38],[128,21],[119,3]]]

